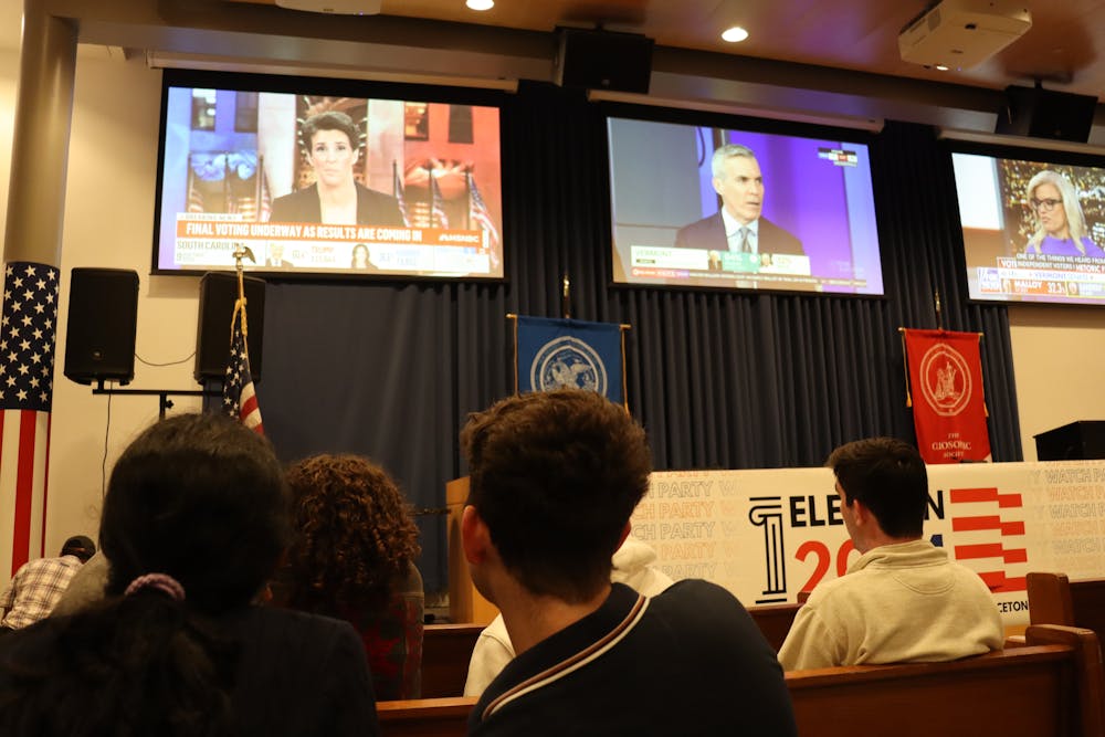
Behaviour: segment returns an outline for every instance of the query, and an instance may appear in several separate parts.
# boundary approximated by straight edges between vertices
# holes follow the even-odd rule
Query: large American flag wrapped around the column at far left
[[[11,262],[0,308],[0,571],[43,555],[59,271]],[[2,539],[2,538],[0,538]]]

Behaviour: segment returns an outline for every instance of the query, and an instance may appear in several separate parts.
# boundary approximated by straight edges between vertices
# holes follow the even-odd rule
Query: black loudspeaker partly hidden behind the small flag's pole
[[[265,282],[255,276],[246,276],[244,287],[249,328],[245,347],[250,351],[250,373],[254,381],[260,381],[261,359],[264,356]],[[236,274],[210,272],[200,280],[200,315],[196,331],[193,373],[200,383],[227,376],[227,359],[230,357],[230,322],[234,317],[236,301]]]

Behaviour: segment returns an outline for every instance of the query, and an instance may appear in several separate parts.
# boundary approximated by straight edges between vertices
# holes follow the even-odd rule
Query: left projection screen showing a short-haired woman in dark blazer
[[[288,278],[501,280],[502,191],[497,105],[169,71],[152,270],[233,269],[244,246],[248,269]]]

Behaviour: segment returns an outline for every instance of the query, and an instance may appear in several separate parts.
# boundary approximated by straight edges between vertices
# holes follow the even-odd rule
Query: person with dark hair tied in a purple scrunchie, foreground
[[[0,734],[378,734],[352,629],[251,606],[287,536],[264,438],[218,413],[148,428],[108,482],[104,601],[0,645]]]

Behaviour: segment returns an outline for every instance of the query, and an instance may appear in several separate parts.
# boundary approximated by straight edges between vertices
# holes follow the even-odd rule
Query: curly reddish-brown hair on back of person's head
[[[293,464],[287,481],[287,606],[330,615],[383,607],[420,551],[396,483],[365,457],[325,454]]]

